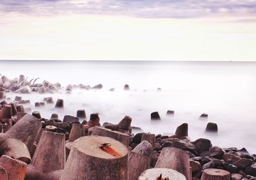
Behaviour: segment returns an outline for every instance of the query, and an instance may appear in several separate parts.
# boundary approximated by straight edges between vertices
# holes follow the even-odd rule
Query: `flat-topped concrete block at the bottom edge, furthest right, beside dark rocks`
[[[230,172],[222,169],[205,169],[202,180],[230,180]]]

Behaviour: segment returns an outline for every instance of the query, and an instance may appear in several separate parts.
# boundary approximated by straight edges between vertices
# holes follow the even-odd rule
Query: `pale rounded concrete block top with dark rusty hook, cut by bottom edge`
[[[183,174],[177,172],[177,170],[166,168],[154,168],[145,170],[139,177],[139,180],[163,180],[165,178],[169,180],[189,180],[186,179]]]

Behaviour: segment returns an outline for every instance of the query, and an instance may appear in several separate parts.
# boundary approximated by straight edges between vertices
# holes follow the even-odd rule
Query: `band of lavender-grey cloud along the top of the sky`
[[[143,18],[255,15],[256,0],[2,0],[0,11],[31,15],[90,14]]]

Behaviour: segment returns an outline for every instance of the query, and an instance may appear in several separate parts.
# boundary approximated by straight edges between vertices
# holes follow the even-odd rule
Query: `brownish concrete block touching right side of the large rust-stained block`
[[[128,179],[138,179],[150,166],[151,158],[132,151],[128,153]]]

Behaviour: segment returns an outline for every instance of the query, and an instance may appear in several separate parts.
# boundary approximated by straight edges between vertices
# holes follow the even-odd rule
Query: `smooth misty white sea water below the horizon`
[[[30,100],[32,110],[42,117],[58,113],[76,116],[85,109],[86,116],[99,112],[101,124],[118,123],[125,115],[132,126],[150,133],[174,133],[182,123],[189,124],[189,137],[210,139],[220,147],[237,147],[256,153],[256,63],[248,62],[163,62],[163,61],[0,61],[0,73],[13,79],[20,74],[28,79],[40,77],[68,84],[102,84],[101,90],[65,88],[55,94],[21,94]],[[131,91],[124,91],[129,84]],[[109,91],[112,87],[116,91]],[[161,87],[162,91],[156,91]],[[143,92],[147,90],[147,92]],[[14,98],[17,94],[8,93]],[[20,94],[19,94],[20,95]],[[64,109],[54,105],[33,107],[36,101],[52,96],[64,100]],[[166,116],[175,110],[174,116]],[[158,111],[161,121],[151,121],[150,113]],[[198,119],[202,113],[208,119]],[[218,134],[204,133],[206,124],[218,124]],[[136,133],[136,132],[134,132]]]

